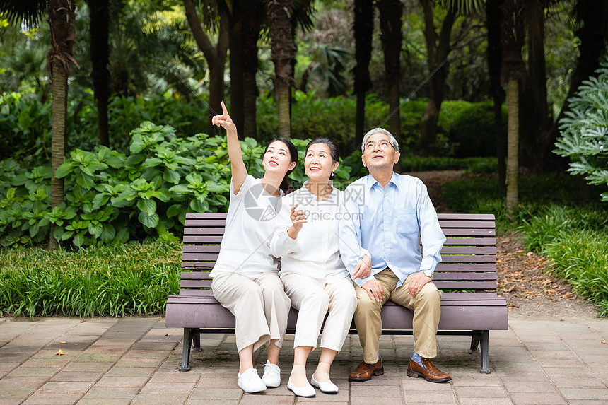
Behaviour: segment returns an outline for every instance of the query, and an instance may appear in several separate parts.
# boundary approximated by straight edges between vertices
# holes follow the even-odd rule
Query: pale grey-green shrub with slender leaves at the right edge
[[[583,175],[589,184],[608,184],[608,60],[604,58],[597,77],[583,81],[571,110],[561,119],[561,137],[554,153],[571,158],[568,172]],[[605,187],[604,187],[605,189]],[[608,201],[608,192],[602,193]]]

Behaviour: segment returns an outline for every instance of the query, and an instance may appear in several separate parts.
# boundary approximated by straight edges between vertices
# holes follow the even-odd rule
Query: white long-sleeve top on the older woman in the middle
[[[349,277],[339,251],[342,192],[334,188],[327,200],[317,201],[306,184],[281,198],[270,252],[281,258],[281,274],[306,274],[323,284]],[[291,207],[296,204],[297,210],[305,211],[307,223],[296,239],[291,239],[287,230],[292,225]]]

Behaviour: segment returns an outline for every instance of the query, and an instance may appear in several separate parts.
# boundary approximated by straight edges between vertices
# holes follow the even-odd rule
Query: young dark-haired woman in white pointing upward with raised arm
[[[262,155],[264,177],[253,178],[247,174],[236,127],[223,102],[222,110],[213,124],[226,129],[232,180],[226,233],[210,274],[211,289],[236,319],[238,386],[259,392],[281,384],[279,350],[291,300],[283,290],[278,261],[270,254],[270,240],[276,204],[288,187],[287,175],[296,167],[298,151],[288,139],[271,141]],[[266,342],[268,360],[260,378],[252,355]]]

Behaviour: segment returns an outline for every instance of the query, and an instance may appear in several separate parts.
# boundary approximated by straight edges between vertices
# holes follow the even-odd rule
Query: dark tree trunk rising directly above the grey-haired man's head
[[[389,129],[391,134],[401,144],[401,117],[399,115],[399,78],[401,66],[401,32],[403,5],[399,0],[379,0],[380,11],[380,40],[384,49],[385,88],[389,105]]]

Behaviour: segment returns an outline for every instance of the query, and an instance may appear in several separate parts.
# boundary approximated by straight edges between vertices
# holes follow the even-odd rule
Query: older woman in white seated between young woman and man
[[[300,397],[321,392],[335,394],[329,367],[342,348],[356,309],[353,281],[339,252],[341,192],[329,181],[338,168],[339,149],[329,139],[310,141],[304,169],[308,182],[281,199],[276,232],[270,251],[281,257],[281,281],[298,312],[293,369],[287,388]],[[329,310],[321,336],[321,355],[310,384],[306,359],[317,347],[317,337]]]

